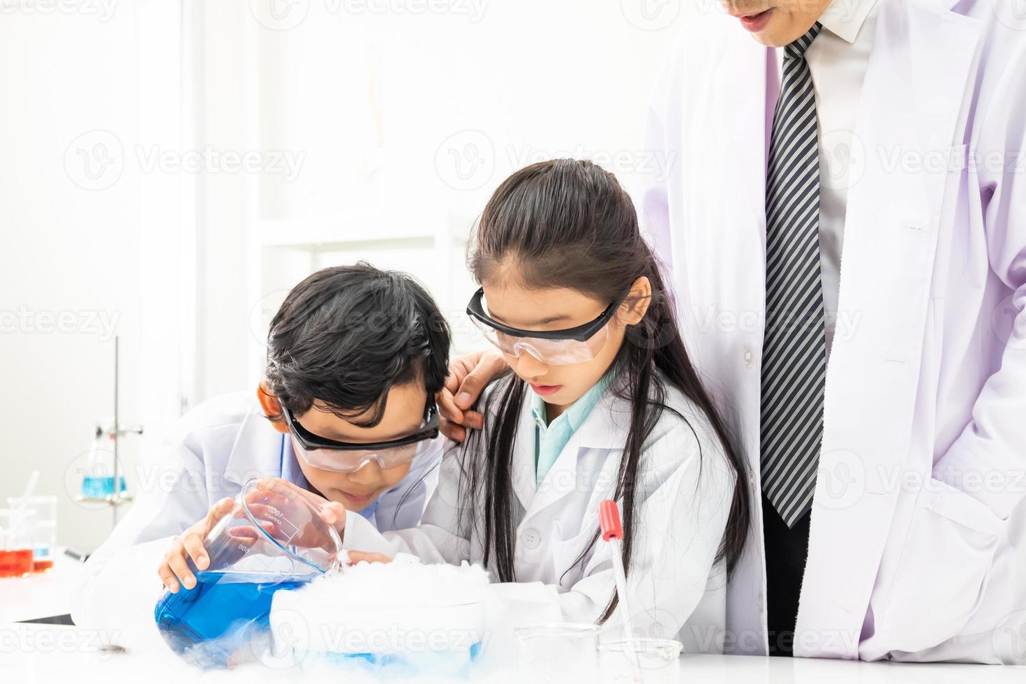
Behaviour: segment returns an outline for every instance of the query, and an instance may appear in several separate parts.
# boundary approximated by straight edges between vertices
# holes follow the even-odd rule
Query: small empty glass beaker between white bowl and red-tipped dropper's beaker
[[[598,626],[562,622],[513,632],[521,681],[563,684],[598,679]]]

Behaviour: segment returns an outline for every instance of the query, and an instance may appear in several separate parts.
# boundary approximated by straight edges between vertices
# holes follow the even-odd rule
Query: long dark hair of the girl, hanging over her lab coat
[[[735,474],[731,513],[716,557],[731,572],[748,535],[750,500],[745,464],[692,366],[659,263],[641,236],[630,197],[616,177],[591,162],[573,159],[540,162],[515,172],[484,208],[470,244],[468,266],[479,283],[513,267],[527,287],[565,287],[601,301],[617,300],[641,276],[648,279],[652,299],[647,311],[640,323],[627,327],[624,344],[608,370],[615,375],[611,390],[631,406],[615,493],[615,498],[622,500],[624,567],[630,572],[636,542],[634,483],[642,447],[662,411],[672,410],[665,404],[669,384],[705,413]],[[631,300],[625,304],[629,306]],[[525,384],[516,377],[498,386],[486,407],[485,430],[469,433],[464,446],[469,449],[465,453],[486,456],[464,459],[463,486],[469,488],[469,498],[464,500],[469,505],[460,508],[464,515],[483,513],[483,520],[476,523],[483,524],[483,562],[502,581],[516,579],[512,455],[525,391]],[[597,538],[596,529],[589,549]],[[586,554],[587,550],[578,562]],[[615,608],[614,599],[600,621]]]

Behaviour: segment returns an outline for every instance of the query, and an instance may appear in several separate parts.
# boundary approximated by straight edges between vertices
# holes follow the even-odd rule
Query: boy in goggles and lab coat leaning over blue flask
[[[162,477],[146,479],[156,487],[85,564],[75,622],[126,625],[112,613],[142,605],[152,626],[154,566],[172,592],[195,586],[186,556],[205,567],[206,531],[253,477],[287,480],[383,531],[419,522],[441,455],[434,396],[448,348],[437,306],[404,274],[358,264],[301,282],[271,321],[255,401],[227,395],[181,419]]]

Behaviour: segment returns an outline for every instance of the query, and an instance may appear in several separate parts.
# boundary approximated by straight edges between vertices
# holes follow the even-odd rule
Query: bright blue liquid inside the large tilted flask
[[[154,616],[171,650],[207,667],[228,665],[235,648],[254,631],[270,628],[275,592],[299,589],[312,578],[209,570],[195,574],[192,589],[164,592]]]

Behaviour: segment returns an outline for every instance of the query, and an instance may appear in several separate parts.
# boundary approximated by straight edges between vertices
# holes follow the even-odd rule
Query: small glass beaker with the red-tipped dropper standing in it
[[[676,684],[680,649],[674,639],[622,639],[599,646],[602,684]]]

